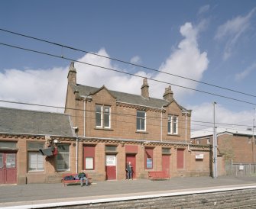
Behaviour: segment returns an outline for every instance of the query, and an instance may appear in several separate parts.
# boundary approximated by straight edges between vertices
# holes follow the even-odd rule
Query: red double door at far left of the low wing
[[[16,183],[16,153],[0,153],[0,185]]]

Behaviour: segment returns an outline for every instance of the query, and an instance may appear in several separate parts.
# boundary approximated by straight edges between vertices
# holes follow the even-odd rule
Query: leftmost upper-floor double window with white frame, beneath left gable
[[[96,127],[111,127],[111,108],[105,105],[96,105]]]

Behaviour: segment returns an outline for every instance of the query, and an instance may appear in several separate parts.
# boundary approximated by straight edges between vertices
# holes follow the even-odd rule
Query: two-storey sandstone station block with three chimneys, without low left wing
[[[170,86],[163,93],[163,99],[151,98],[147,79],[141,95],[79,85],[71,63],[65,113],[78,128],[78,170],[98,180],[125,179],[131,162],[134,178],[152,170],[209,175],[209,146],[190,144],[191,111],[177,103]]]

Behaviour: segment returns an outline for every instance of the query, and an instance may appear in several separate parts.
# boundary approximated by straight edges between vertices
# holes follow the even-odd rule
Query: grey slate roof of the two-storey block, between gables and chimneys
[[[79,84],[74,85],[73,88],[76,92],[79,92],[80,96],[93,95],[94,93],[98,92],[100,89],[92,86],[79,85]],[[134,104],[134,105],[147,106],[152,108],[162,108],[163,106],[167,106],[172,102],[172,101],[170,102],[170,101],[159,99],[159,98],[144,98],[141,95],[132,95],[125,92],[116,92],[112,90],[109,90],[109,93],[111,93],[116,98],[116,101],[128,103],[128,104]],[[173,99],[173,101],[175,100]],[[180,106],[180,108],[186,110],[182,106]]]

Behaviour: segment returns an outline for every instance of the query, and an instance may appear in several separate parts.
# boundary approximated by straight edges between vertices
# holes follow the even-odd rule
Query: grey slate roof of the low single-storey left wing
[[[0,107],[0,133],[73,136],[67,114]]]

